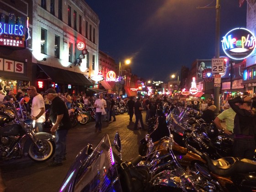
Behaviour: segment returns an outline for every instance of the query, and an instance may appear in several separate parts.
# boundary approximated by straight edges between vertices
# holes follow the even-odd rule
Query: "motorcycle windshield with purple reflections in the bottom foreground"
[[[77,155],[59,192],[122,192],[108,135],[82,160],[80,154],[85,151],[84,148]]]

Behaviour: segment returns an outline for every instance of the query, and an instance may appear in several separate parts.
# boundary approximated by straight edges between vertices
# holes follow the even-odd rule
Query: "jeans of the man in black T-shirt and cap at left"
[[[63,158],[66,155],[67,134],[68,134],[67,129],[60,129],[56,131],[56,134],[55,134],[56,149],[55,149],[54,161],[57,163],[61,163]]]

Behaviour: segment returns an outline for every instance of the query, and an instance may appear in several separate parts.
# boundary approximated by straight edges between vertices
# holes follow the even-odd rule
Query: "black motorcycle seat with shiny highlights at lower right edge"
[[[256,162],[249,159],[224,157],[218,160],[212,160],[208,156],[204,156],[207,160],[209,170],[220,176],[232,176],[238,173],[256,171]]]

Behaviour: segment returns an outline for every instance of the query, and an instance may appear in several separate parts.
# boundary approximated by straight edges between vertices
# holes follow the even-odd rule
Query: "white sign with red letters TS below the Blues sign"
[[[0,70],[15,73],[24,73],[24,63],[0,58]]]

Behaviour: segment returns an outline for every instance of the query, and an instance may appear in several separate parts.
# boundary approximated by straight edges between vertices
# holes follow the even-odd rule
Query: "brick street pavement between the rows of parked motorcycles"
[[[143,120],[145,114],[144,112]],[[70,129],[67,136],[67,160],[61,166],[49,167],[50,160],[38,163],[27,156],[1,162],[0,170],[6,186],[5,192],[57,192],[75,156],[88,143],[96,146],[106,133],[113,143],[116,131],[119,132],[123,160],[136,157],[139,154],[139,141],[147,131],[133,130],[135,116],[133,122],[129,121],[127,113],[117,115],[116,119],[115,122],[104,122],[102,133],[95,133],[94,121]],[[113,150],[117,152],[116,149]]]

